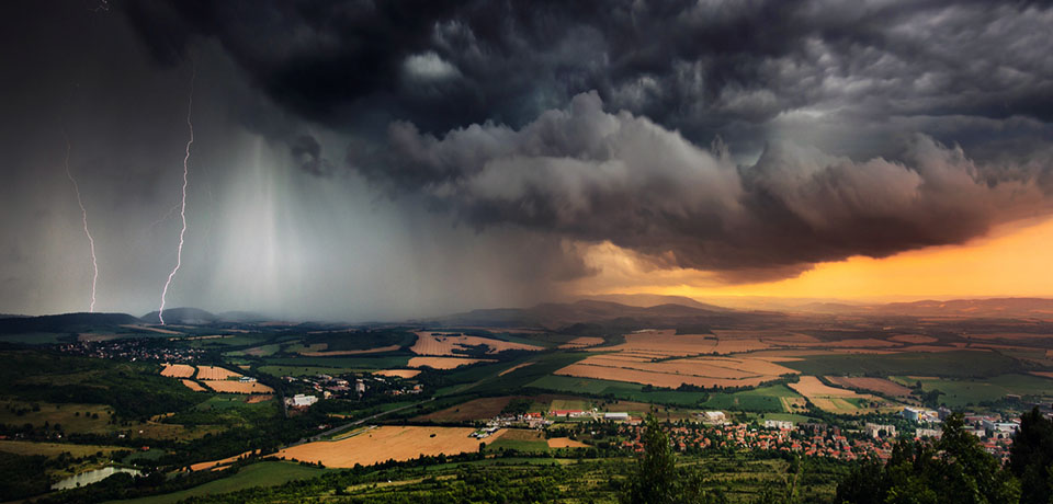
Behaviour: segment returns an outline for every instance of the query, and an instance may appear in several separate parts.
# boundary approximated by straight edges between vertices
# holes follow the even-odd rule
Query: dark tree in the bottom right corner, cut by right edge
[[[1053,502],[1053,421],[1035,408],[1020,415],[1012,436],[1009,470],[1020,478],[1021,504]]]

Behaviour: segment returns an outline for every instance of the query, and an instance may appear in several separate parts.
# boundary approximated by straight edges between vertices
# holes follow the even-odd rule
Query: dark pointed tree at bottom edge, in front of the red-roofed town
[[[636,472],[630,476],[621,501],[624,504],[718,504],[726,500],[720,493],[703,490],[705,479],[698,469],[677,467],[677,455],[669,436],[654,414],[648,414],[644,429],[644,454]]]

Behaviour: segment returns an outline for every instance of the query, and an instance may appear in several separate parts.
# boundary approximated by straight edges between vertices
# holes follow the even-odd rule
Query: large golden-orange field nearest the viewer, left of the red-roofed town
[[[456,455],[479,449],[479,439],[468,437],[474,428],[382,426],[337,442],[307,443],[286,448],[278,457],[326,467],[350,468],[355,463],[371,466],[388,459],[410,460],[421,455]],[[490,444],[503,434],[498,431],[482,439]]]

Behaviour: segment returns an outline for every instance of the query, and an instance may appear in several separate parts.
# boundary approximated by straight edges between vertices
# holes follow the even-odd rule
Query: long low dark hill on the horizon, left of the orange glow
[[[703,330],[711,324],[727,327],[745,321],[775,320],[783,317],[775,312],[705,309],[673,303],[635,307],[611,301],[580,300],[569,303],[548,302],[533,308],[472,310],[422,322],[446,327],[528,327],[550,330],[578,325],[602,332],[604,328],[634,330],[693,327]]]

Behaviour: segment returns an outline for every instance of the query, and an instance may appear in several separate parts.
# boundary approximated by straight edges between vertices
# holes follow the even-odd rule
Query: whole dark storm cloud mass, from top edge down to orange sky
[[[960,243],[1049,207],[1046,2],[124,11],[158,60],[218,41],[285,111],[352,135],[347,164],[376,186],[479,229],[610,240],[752,279]],[[247,124],[329,172],[314,137]],[[748,165],[697,147],[717,135]]]

